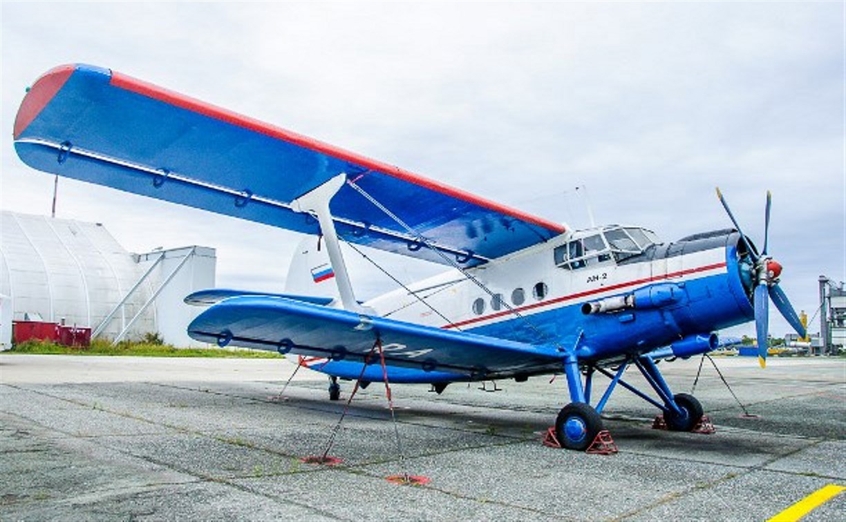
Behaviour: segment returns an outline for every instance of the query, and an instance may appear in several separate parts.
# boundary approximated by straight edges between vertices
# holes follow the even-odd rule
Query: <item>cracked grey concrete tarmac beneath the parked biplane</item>
[[[715,358],[695,395],[711,435],[651,429],[654,407],[615,391],[619,453],[540,443],[566,401],[559,376],[528,383],[392,386],[343,411],[326,377],[282,360],[0,355],[0,519],[762,520],[846,486],[846,360]],[[662,363],[690,392],[699,359]],[[636,372],[627,380],[641,384]],[[601,376],[595,386],[603,384]],[[491,383],[487,383],[491,389]],[[386,476],[426,476],[400,486]],[[803,520],[846,519],[846,494]]]

